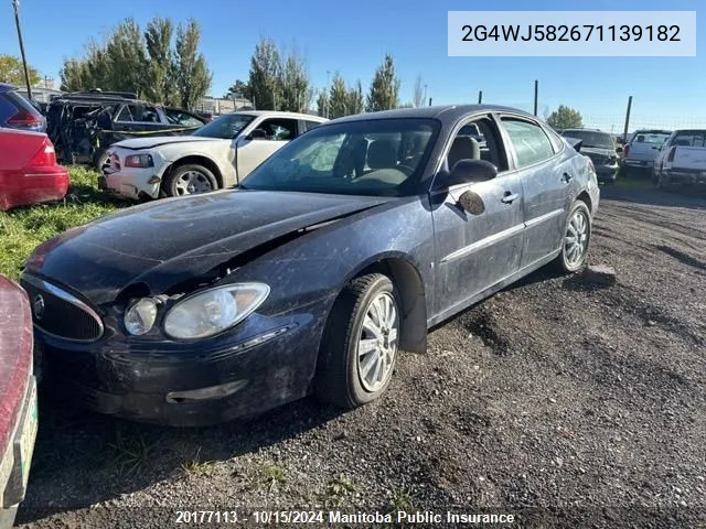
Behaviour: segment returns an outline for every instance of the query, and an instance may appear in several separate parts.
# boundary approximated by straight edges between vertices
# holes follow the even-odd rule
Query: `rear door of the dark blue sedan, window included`
[[[576,175],[554,132],[524,116],[501,115],[500,121],[522,184],[525,268],[560,247]]]

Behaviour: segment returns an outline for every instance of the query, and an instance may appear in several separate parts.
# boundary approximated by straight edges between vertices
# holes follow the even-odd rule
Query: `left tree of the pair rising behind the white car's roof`
[[[253,102],[261,110],[277,109],[277,101],[281,99],[281,57],[279,50],[271,39],[261,37],[255,46],[250,57],[248,86]]]

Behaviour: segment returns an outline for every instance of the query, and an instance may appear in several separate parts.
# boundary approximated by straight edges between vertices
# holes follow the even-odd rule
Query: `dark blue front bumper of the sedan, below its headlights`
[[[200,427],[308,395],[321,324],[308,312],[257,316],[237,337],[211,346],[115,337],[77,344],[41,330],[35,339],[46,381],[76,404],[141,422]]]

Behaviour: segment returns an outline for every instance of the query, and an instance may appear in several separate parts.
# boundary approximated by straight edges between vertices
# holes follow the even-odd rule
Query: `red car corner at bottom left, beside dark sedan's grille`
[[[24,499],[36,440],[33,344],[26,292],[0,274],[0,529],[12,527]]]

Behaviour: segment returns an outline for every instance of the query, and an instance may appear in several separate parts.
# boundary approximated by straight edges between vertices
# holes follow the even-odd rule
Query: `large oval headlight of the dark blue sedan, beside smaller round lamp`
[[[191,295],[164,317],[164,333],[178,339],[206,338],[237,325],[269,294],[265,283],[235,283]]]

